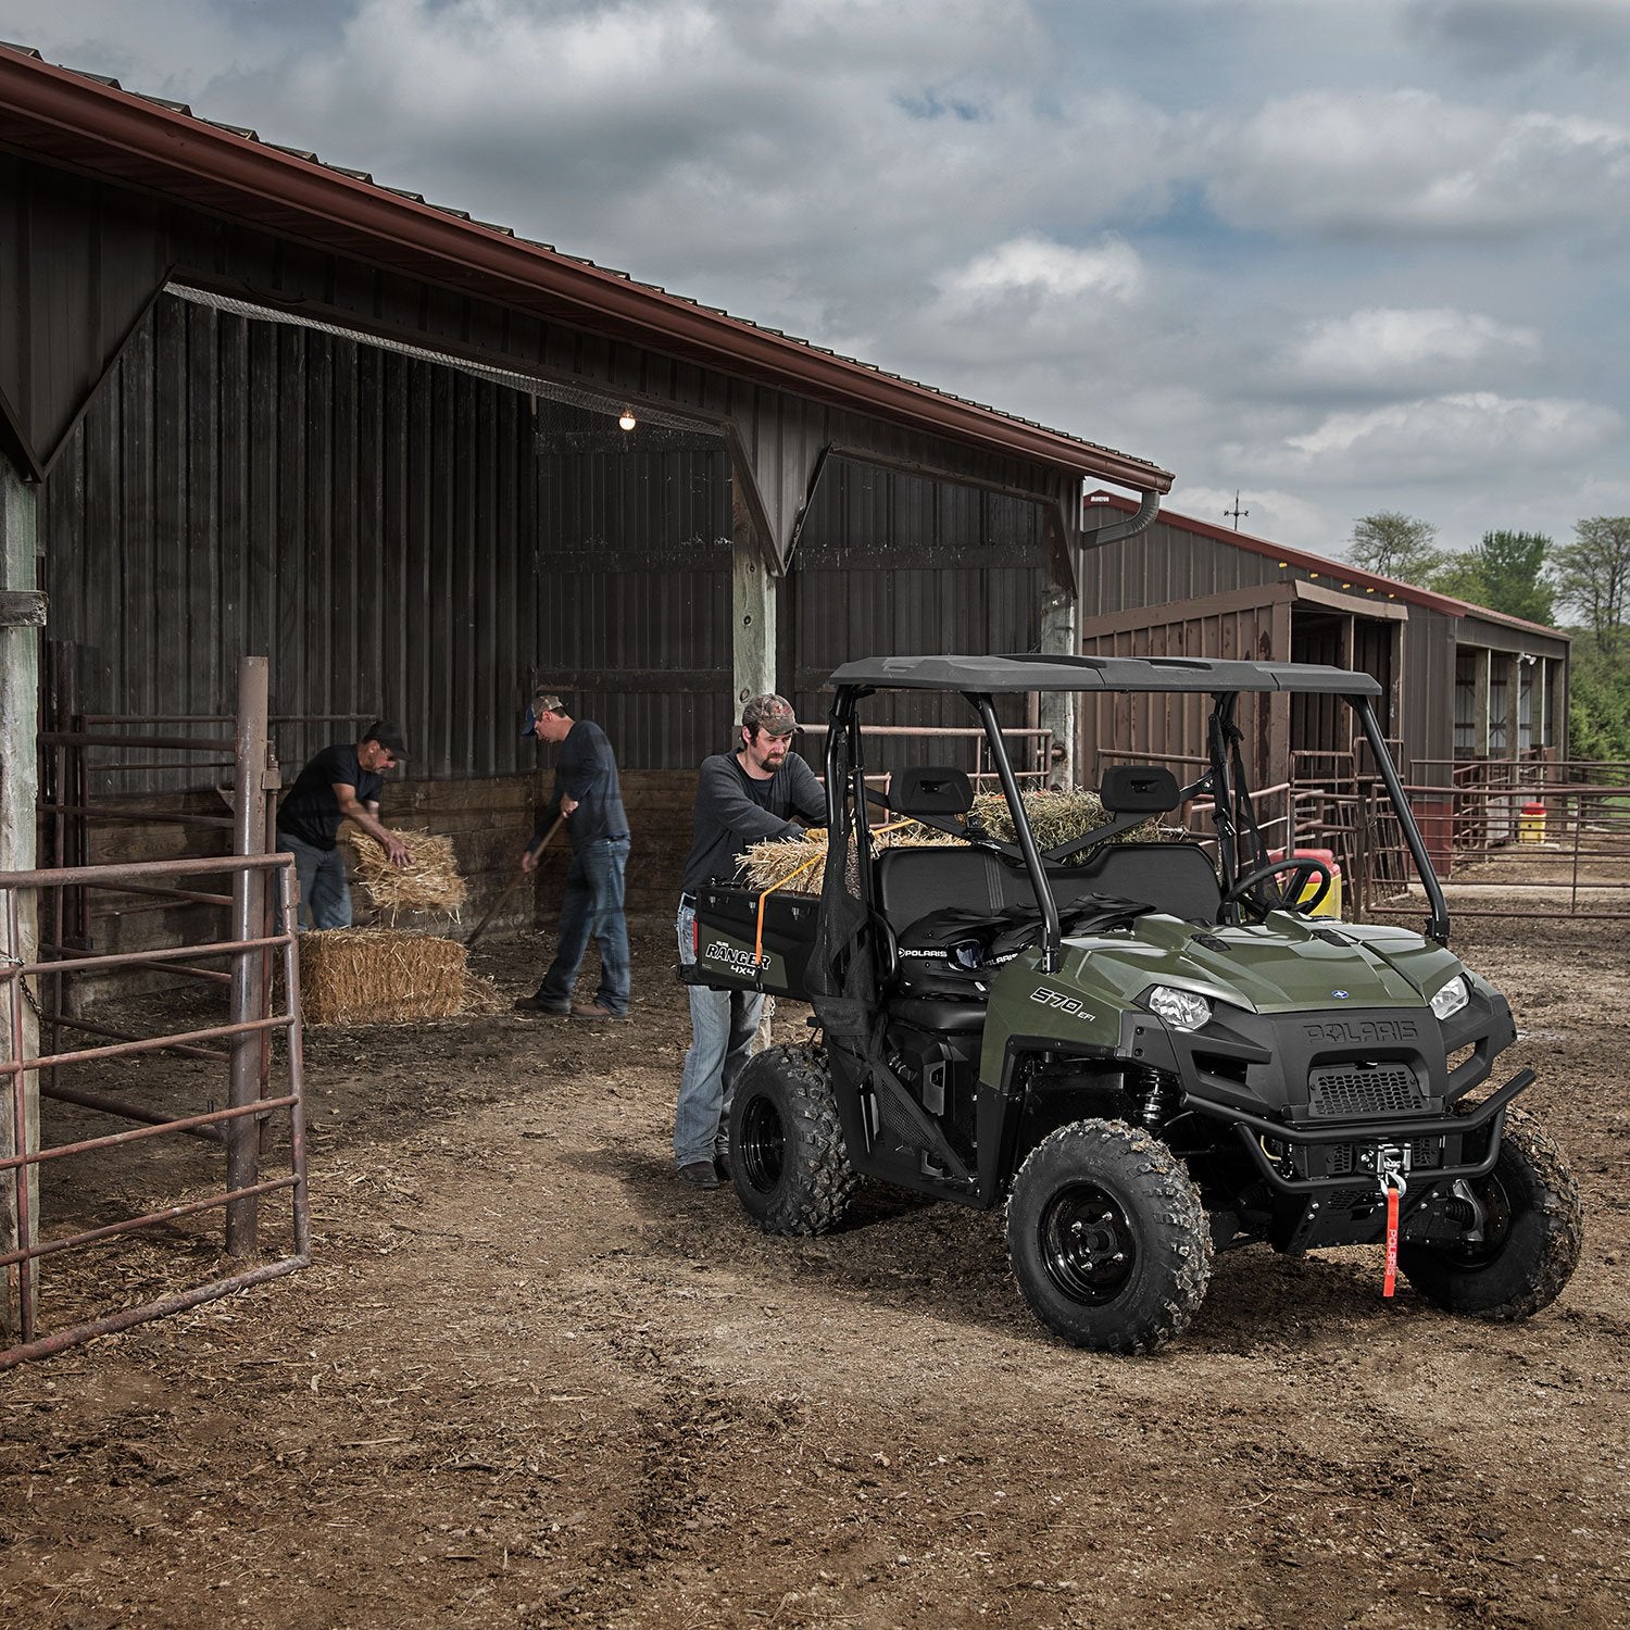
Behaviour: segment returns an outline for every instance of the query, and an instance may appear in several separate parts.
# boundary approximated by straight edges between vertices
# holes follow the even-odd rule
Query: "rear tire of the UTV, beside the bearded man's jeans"
[[[730,1180],[766,1234],[825,1234],[859,1187],[825,1060],[771,1046],[742,1071],[730,1105]]]

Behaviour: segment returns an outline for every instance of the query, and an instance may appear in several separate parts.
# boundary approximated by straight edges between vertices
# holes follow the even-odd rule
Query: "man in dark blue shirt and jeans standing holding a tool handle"
[[[572,862],[566,870],[554,962],[536,993],[522,996],[515,1006],[522,1012],[572,1019],[626,1019],[631,981],[623,872],[629,841],[616,755],[605,730],[588,719],[574,720],[553,691],[533,696],[522,735],[561,743],[554,797],[522,856],[522,870],[536,870],[538,851],[556,813],[572,836]],[[590,934],[600,945],[600,989],[592,1002],[574,1002],[572,986]]]

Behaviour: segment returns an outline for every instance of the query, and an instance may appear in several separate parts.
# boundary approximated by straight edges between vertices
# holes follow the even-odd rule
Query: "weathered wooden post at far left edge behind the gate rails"
[[[11,608],[0,621],[0,870],[31,872],[37,861],[39,804],[39,616],[28,610],[37,603],[37,520],[34,487],[23,482],[10,463],[0,460],[0,597]],[[13,615],[15,611],[15,615]],[[3,945],[10,957],[33,962],[39,944],[37,900],[33,893],[18,900],[15,916],[18,944]],[[18,1051],[8,1058],[26,1058],[39,1051],[39,1027],[26,1004],[13,1009],[16,1029],[7,1024],[8,1045]],[[0,1104],[0,1157],[33,1154],[39,1149],[39,1076],[28,1071],[16,1081],[20,1102]],[[21,1134],[21,1138],[20,1138]],[[23,1148],[18,1148],[21,1141]],[[24,1205],[18,1206],[18,1185],[26,1182]],[[23,1239],[18,1213],[29,1219],[26,1232],[34,1232],[39,1214],[39,1182],[34,1169],[26,1178],[18,1174],[0,1177],[0,1250],[33,1245]],[[33,1309],[24,1309],[13,1296],[16,1276],[0,1280],[0,1330],[8,1333],[33,1325]],[[29,1278],[33,1289],[33,1280]]]

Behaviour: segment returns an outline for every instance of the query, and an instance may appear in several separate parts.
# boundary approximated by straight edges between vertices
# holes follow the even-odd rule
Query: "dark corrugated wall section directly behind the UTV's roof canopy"
[[[789,585],[794,706],[822,717],[839,663],[875,655],[1035,650],[1046,588],[1040,505],[1007,494],[835,460],[817,487]],[[1024,725],[1025,699],[999,703]],[[973,720],[958,696],[895,693],[875,725]],[[879,763],[970,763],[971,747],[893,738]]]

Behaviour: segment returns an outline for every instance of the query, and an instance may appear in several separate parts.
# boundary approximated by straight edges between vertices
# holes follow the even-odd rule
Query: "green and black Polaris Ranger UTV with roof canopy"
[[[1213,1253],[1257,1242],[1384,1245],[1386,1294],[1402,1270],[1430,1302],[1482,1319],[1526,1319],[1562,1291],[1579,1196],[1511,1107],[1534,1073],[1477,1092],[1516,1040],[1511,1009],[1447,950],[1374,680],[1273,662],[883,657],[833,685],[818,900],[704,890],[681,970],[815,1009],[815,1040],[758,1055],[735,1087],[732,1180],[760,1227],[825,1232],[862,1177],[1006,1201],[1037,1317],[1112,1353],[1180,1335]],[[962,769],[867,789],[888,766],[867,763],[859,712],[885,689],[968,701],[1012,841],[973,815]],[[996,699],[1058,689],[1208,698],[1208,768],[1178,787],[1169,769],[1112,766],[1104,823],[1038,848]],[[1314,914],[1327,864],[1267,846],[1236,719],[1240,696],[1275,691],[1353,711],[1425,932]],[[1193,800],[1211,805],[1216,861],[1193,838],[1113,841]],[[879,846],[879,805],[952,841]]]

